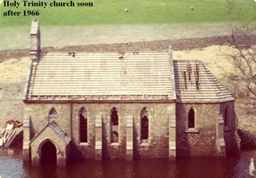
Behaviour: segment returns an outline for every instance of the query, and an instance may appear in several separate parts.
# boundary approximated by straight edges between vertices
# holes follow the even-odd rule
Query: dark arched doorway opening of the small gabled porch
[[[57,163],[57,149],[53,143],[46,141],[42,145],[42,164],[56,164]]]

